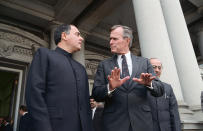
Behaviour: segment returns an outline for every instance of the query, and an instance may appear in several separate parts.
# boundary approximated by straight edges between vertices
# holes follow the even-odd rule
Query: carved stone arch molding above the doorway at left
[[[0,56],[17,59],[31,57],[44,41],[21,29],[0,24]],[[12,30],[13,28],[13,30]],[[42,42],[40,44],[39,42]],[[15,56],[17,55],[17,56]]]

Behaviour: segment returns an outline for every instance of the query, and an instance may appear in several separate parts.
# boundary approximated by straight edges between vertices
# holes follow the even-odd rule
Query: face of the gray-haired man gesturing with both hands
[[[110,48],[112,53],[126,54],[129,51],[129,38],[123,38],[123,28],[118,27],[110,33]]]

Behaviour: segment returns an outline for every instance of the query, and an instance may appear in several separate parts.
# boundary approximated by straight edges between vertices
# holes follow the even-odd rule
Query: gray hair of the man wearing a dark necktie
[[[114,25],[111,27],[110,31],[115,30],[116,28],[121,27],[123,28],[123,38],[130,38],[130,45],[129,47],[132,47],[132,43],[133,43],[133,30],[128,27],[128,26],[124,26],[124,25]]]

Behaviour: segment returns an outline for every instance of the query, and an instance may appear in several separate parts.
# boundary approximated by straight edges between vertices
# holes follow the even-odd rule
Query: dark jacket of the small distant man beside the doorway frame
[[[29,114],[21,116],[19,123],[19,131],[29,131],[30,129],[30,117]]]

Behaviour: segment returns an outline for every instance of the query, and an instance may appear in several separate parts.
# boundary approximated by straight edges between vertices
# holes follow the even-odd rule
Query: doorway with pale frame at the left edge
[[[0,116],[13,121],[17,130],[23,70],[0,66]]]

